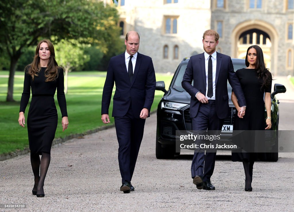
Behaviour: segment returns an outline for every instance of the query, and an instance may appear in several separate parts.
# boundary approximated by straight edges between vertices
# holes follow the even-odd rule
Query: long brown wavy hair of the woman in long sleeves
[[[51,57],[49,58],[49,62],[47,64],[47,68],[45,70],[45,77],[46,77],[45,82],[54,81],[58,77],[58,69],[61,67],[58,66],[58,64],[55,60],[54,46],[50,40],[44,39],[38,43],[38,45],[36,47],[34,60],[31,64],[26,66],[26,70],[28,70],[28,73],[29,73],[29,75],[32,76],[33,80],[34,80],[35,76],[38,76],[38,73],[41,70],[39,49],[40,49],[41,43],[43,43],[43,42],[48,44],[48,48],[49,48],[50,55],[51,55]]]

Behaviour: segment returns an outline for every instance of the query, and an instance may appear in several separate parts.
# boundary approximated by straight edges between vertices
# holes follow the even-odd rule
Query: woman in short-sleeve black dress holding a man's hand
[[[253,45],[247,49],[245,64],[247,68],[236,71],[242,90],[246,99],[246,114],[240,114],[240,106],[238,105],[237,97],[232,92],[232,102],[236,107],[234,120],[234,130],[246,130],[245,138],[241,138],[243,143],[249,141],[249,145],[254,145],[255,137],[250,136],[250,133],[255,130],[264,130],[271,128],[270,117],[270,92],[272,86],[272,75],[265,68],[263,52],[259,46]],[[264,100],[263,100],[264,96]],[[267,111],[267,117],[264,117],[264,106]],[[234,134],[234,133],[233,133]],[[248,135],[250,136],[248,139]],[[240,141],[240,140],[239,140]],[[242,141],[241,141],[242,142]],[[238,143],[238,141],[236,141]],[[254,152],[232,152],[232,161],[242,161],[245,170],[245,191],[252,191],[251,182],[253,175],[253,164],[256,158]]]

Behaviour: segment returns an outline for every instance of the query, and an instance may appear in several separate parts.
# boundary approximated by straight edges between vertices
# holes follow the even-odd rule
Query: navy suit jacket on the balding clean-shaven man
[[[143,108],[150,112],[156,86],[151,57],[138,52],[132,82],[126,69],[125,53],[110,59],[103,87],[101,114],[108,114],[114,83],[116,90],[113,96],[113,117],[126,115],[130,104],[133,115],[137,118]]]

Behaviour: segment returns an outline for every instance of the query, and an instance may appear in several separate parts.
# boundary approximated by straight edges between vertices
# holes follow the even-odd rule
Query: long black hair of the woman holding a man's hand
[[[251,48],[254,48],[256,50],[256,54],[257,54],[256,61],[255,61],[255,69],[257,69],[256,76],[258,77],[258,79],[262,79],[261,89],[268,88],[270,86],[271,81],[272,81],[272,73],[270,73],[270,71],[267,68],[265,68],[264,59],[263,59],[263,52],[259,46],[253,45],[247,49],[245,64],[247,67],[249,66],[248,51]]]

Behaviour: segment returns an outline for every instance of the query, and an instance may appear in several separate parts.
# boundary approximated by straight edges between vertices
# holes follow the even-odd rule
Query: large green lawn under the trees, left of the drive
[[[1,75],[8,75],[8,71],[0,71]],[[18,77],[20,76],[21,77]],[[28,147],[28,134],[26,126],[22,128],[18,124],[19,101],[23,90],[23,72],[16,72],[14,78],[14,100],[16,102],[5,102],[7,95],[7,77],[0,77],[0,154],[22,150]],[[69,115],[69,128],[62,132],[61,113],[56,99],[56,107],[59,116],[55,138],[63,138],[71,134],[83,133],[88,130],[103,126],[101,121],[101,97],[106,72],[82,71],[69,73],[69,90],[66,94],[67,110]],[[157,81],[165,81],[166,88],[171,82],[172,76],[156,74]],[[114,90],[114,89],[113,89]],[[113,92],[114,93],[114,92]],[[163,92],[156,91],[151,110],[157,108]],[[112,111],[110,104],[109,114]],[[26,109],[25,116],[29,110]],[[113,118],[111,117],[113,123]]]

